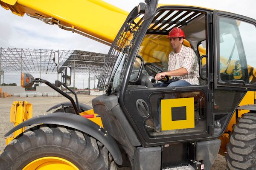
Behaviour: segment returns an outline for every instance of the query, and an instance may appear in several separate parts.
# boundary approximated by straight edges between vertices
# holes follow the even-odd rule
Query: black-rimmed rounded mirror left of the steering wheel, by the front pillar
[[[137,55],[134,61],[134,66],[131,71],[129,82],[137,82],[140,79],[143,66],[144,66],[143,58],[140,55]]]

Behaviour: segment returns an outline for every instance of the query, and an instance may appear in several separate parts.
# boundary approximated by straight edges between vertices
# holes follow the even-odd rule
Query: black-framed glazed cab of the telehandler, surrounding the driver
[[[122,111],[138,139],[133,146],[143,146],[137,148],[139,158],[135,159],[159,151],[157,157],[161,161],[152,161],[149,167],[165,169],[190,164],[197,168],[204,163],[204,168],[209,169],[220,147],[217,138],[224,133],[246,91],[256,89],[255,40],[250,39],[250,35],[256,35],[256,21],[192,6],[159,5],[148,20],[143,20],[143,14],[132,15],[133,12],[113,42],[100,77],[99,87],[108,85],[110,96],[93,99],[94,111],[120,143],[125,139],[116,129],[125,129],[124,134],[128,129],[118,119]],[[156,87],[154,75],[168,67],[172,48],[166,37],[173,27],[183,29],[184,45],[198,56],[200,85]],[[118,113],[114,112],[116,108]],[[119,124],[109,123],[116,119]],[[152,122],[161,122],[161,130],[148,128]],[[205,148],[208,149],[203,152]],[[172,158],[171,153],[175,153]],[[230,157],[228,167],[232,169],[236,163]],[[236,168],[243,169],[237,164]]]

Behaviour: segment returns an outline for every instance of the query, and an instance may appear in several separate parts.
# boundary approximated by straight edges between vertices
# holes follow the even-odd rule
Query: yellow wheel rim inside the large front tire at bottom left
[[[23,170],[79,170],[79,168],[67,159],[48,156],[30,162]]]

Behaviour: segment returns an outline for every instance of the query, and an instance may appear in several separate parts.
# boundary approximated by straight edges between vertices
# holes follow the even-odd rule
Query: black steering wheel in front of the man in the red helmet
[[[155,77],[158,73],[164,72],[162,68],[160,68],[158,65],[146,62],[144,64],[145,70],[148,72],[148,74],[152,77]],[[169,82],[169,76],[165,76],[163,79],[160,79],[161,82]]]

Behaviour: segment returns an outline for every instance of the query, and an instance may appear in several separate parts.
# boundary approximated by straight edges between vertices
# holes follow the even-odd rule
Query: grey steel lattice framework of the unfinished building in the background
[[[58,74],[52,60],[54,52],[59,53],[58,72],[71,67],[74,74],[99,77],[107,54],[80,50],[54,50],[0,47],[0,84],[3,73]],[[89,82],[90,84],[90,82]]]

